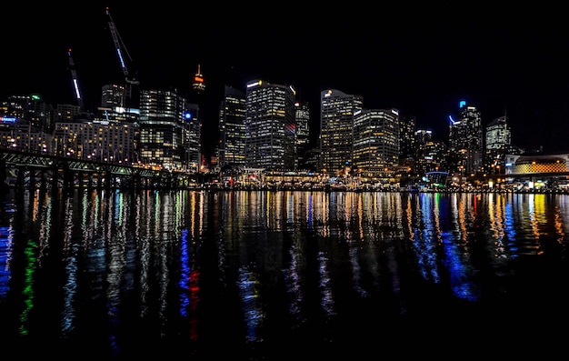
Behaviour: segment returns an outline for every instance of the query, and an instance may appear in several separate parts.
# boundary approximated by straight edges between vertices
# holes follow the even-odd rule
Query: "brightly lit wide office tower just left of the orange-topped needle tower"
[[[164,90],[143,90],[140,98],[140,161],[171,170],[187,168],[185,98]]]

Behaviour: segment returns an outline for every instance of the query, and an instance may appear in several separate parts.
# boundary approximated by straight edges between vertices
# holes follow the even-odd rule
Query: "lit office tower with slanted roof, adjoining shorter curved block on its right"
[[[364,99],[329,89],[320,93],[320,171],[335,175],[351,166],[354,114]]]

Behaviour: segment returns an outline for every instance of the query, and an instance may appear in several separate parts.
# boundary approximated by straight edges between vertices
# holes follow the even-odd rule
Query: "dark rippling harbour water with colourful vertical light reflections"
[[[3,359],[566,348],[569,196],[11,191],[0,212]]]

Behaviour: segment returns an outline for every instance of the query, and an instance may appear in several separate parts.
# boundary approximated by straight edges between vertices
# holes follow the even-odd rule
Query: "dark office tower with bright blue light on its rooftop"
[[[484,170],[482,118],[474,105],[461,101],[459,106],[458,119],[449,125],[450,164],[455,165],[451,171],[475,175]]]

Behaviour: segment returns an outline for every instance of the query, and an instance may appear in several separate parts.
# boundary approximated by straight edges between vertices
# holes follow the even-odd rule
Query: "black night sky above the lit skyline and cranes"
[[[197,102],[205,134],[214,135],[205,139],[206,153],[215,145],[224,85],[245,90],[257,77],[294,85],[311,105],[313,139],[320,92],[333,88],[363,95],[365,108],[415,116],[444,141],[448,115],[458,115],[465,99],[481,111],[483,125],[507,115],[514,145],[569,152],[569,23],[554,19],[561,8],[345,3],[316,13],[306,3],[125,3],[6,5],[0,98],[39,93],[52,105],[75,104],[72,48],[85,106],[95,110],[101,86],[124,80],[109,6],[142,87],[185,94],[201,65],[206,90]]]

